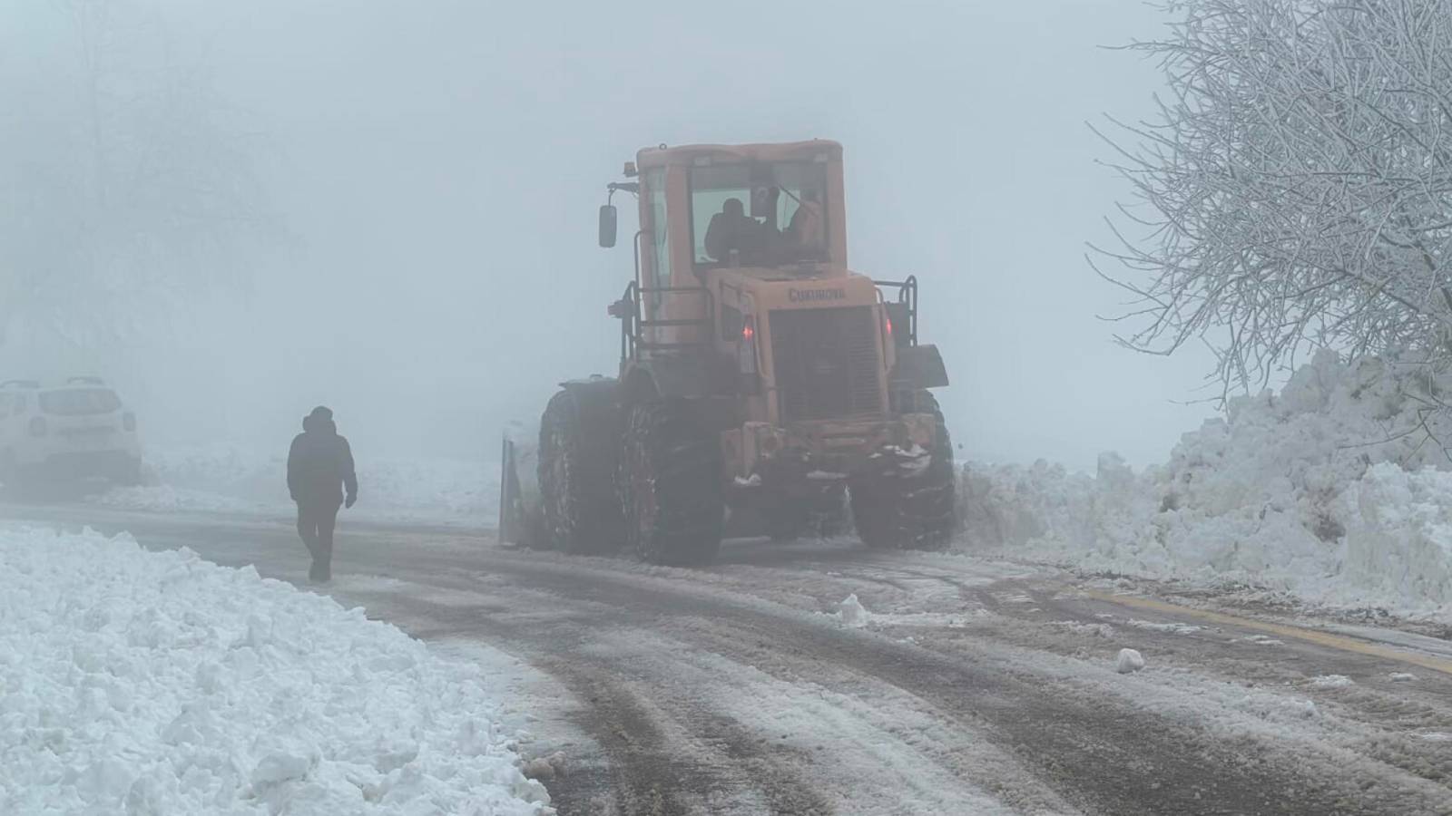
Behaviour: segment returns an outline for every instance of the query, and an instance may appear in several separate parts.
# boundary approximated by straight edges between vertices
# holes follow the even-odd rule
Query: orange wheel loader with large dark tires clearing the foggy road
[[[562,383],[536,449],[505,438],[501,539],[701,565],[723,536],[791,539],[841,510],[868,547],[942,546],[947,372],[918,341],[918,280],[848,267],[842,147],[642,150],[607,184],[601,247],[620,193],[639,229],[608,306],[619,375]]]

